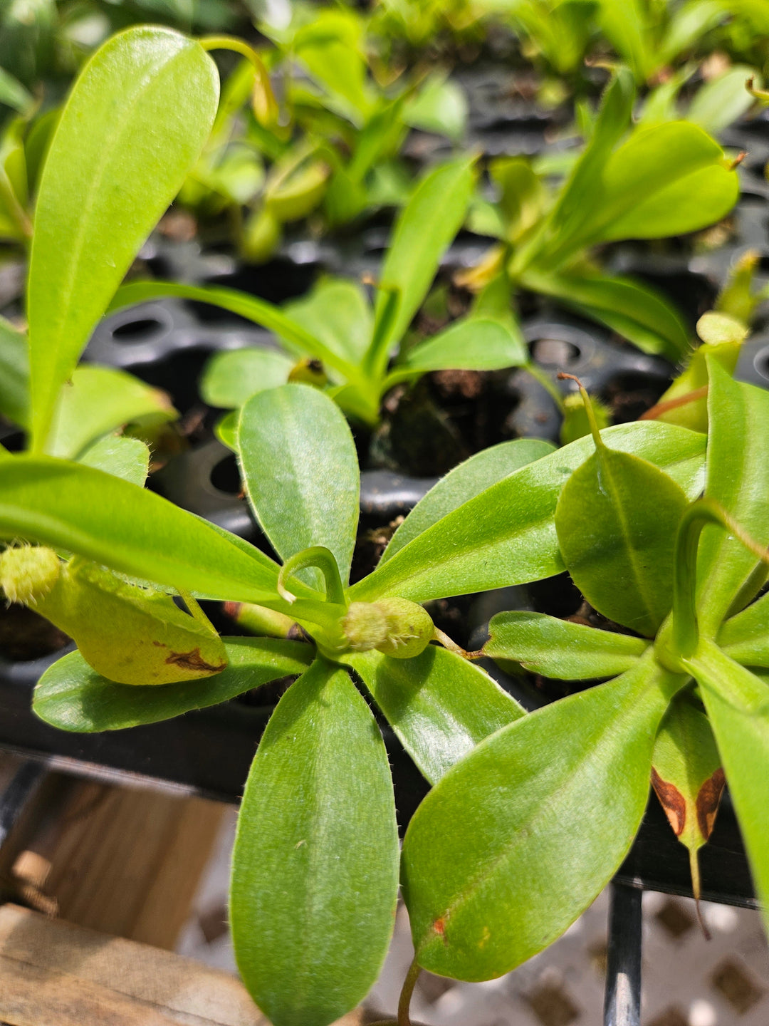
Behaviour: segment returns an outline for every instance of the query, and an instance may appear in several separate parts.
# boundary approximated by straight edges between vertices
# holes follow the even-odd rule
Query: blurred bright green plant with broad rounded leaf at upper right
[[[595,119],[582,125],[584,149],[556,190],[550,169],[524,157],[490,163],[498,199],[485,211],[476,207],[471,224],[498,241],[457,279],[478,289],[502,274],[514,292],[550,297],[678,362],[690,342],[680,313],[643,281],[605,273],[596,247],[669,238],[719,221],[737,201],[739,160],[693,122],[637,124],[635,100],[631,72],[616,69]]]

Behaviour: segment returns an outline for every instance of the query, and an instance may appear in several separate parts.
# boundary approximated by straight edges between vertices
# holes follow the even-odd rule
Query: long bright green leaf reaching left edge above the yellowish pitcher
[[[278,567],[258,549],[152,491],[51,457],[0,463],[0,537],[41,542],[196,594],[275,597]]]

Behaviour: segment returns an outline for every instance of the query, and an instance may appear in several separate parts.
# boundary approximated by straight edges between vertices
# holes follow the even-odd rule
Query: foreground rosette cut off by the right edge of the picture
[[[769,395],[713,356],[707,369],[704,498],[602,432],[551,521],[574,583],[632,633],[531,613],[491,622],[484,655],[606,682],[487,739],[417,810],[402,882],[431,972],[489,979],[560,936],[621,863],[650,779],[696,894],[725,775],[766,903]]]

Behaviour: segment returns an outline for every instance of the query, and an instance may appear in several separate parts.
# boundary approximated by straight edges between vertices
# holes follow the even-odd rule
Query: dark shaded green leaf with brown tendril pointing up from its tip
[[[686,492],[646,460],[603,442],[571,475],[556,531],[571,579],[599,613],[653,637],[673,607],[676,531]]]

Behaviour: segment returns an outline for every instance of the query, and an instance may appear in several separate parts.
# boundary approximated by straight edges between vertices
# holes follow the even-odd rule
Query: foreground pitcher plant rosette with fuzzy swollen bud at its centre
[[[699,492],[702,435],[660,424],[605,435],[664,468],[690,498]],[[118,729],[299,674],[249,775],[233,875],[238,962],[279,1026],[321,1026],[362,999],[392,933],[399,866],[393,789],[379,729],[356,683],[433,784],[484,738],[523,718],[510,696],[435,632],[418,603],[561,571],[553,516],[564,480],[591,447],[589,438],[555,451],[519,440],[479,453],[429,492],[379,566],[353,587],[346,581],[358,518],[355,446],[338,407],[309,386],[253,396],[238,425],[248,499],[282,566],[104,471],[50,457],[0,461],[0,530],[44,546],[6,550],[4,587],[52,616],[63,578],[79,589],[79,618],[68,628],[81,650],[55,663],[35,693],[35,711],[47,722]],[[58,566],[51,550],[77,557]],[[21,583],[19,557],[28,565]],[[31,557],[33,565],[43,562],[42,581],[29,571]],[[113,573],[84,576],[83,561]],[[218,639],[146,585],[129,583],[135,580],[180,593],[193,614],[195,598],[251,603],[266,621],[272,613],[275,633],[297,622],[313,643]],[[132,620],[121,617],[120,602]],[[168,632],[185,621],[186,639],[173,635],[171,647]],[[167,669],[170,657],[177,680],[137,682],[148,679],[140,663],[128,667],[122,684],[104,677],[84,654],[96,665],[105,654],[116,660],[118,638],[157,666]],[[220,672],[217,645],[228,664]]]

